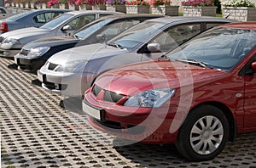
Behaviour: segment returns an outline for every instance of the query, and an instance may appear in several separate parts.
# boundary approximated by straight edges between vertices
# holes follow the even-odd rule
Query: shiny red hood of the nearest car
[[[111,92],[134,95],[157,88],[178,88],[226,76],[227,72],[191,64],[154,59],[110,70],[96,79],[96,85]]]

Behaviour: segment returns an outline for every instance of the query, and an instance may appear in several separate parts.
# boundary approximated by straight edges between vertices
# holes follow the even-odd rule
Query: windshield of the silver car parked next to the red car
[[[145,21],[134,27],[131,27],[128,31],[121,33],[119,36],[114,37],[108,41],[110,45],[119,46],[119,48],[125,48],[131,50],[138,44],[144,43],[150,36],[153,36],[155,32],[162,28],[164,23]]]

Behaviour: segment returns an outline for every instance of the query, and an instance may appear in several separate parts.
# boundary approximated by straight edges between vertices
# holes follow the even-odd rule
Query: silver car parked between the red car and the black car
[[[106,44],[92,44],[55,53],[38,70],[38,80],[49,91],[65,96],[81,96],[102,72],[160,57],[201,31],[233,21],[210,17],[146,20]]]

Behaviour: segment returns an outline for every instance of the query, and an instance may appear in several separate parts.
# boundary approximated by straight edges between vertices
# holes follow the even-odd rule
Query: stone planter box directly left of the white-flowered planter
[[[192,7],[183,6],[183,16],[200,17],[200,16],[216,16],[217,7]]]

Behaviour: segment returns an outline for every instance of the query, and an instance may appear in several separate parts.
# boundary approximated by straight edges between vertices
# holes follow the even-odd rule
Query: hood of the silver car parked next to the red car
[[[63,50],[59,53],[55,53],[48,59],[48,61],[52,64],[64,65],[71,61],[100,59],[127,52],[129,51],[126,49],[114,48],[105,44],[96,43]]]

